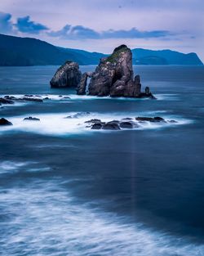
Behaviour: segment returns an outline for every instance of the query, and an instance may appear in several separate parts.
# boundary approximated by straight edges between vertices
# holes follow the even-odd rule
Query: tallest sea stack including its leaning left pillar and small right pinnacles
[[[86,94],[87,74],[82,75],[77,93]],[[111,97],[151,97],[149,88],[141,92],[140,76],[132,69],[131,49],[126,45],[115,48],[113,54],[100,60],[95,72],[91,74],[88,94]]]

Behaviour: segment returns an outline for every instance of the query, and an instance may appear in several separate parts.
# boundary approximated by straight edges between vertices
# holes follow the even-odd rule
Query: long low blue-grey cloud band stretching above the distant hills
[[[108,39],[108,38],[165,38],[173,35],[167,30],[140,31],[132,28],[129,30],[105,30],[97,32],[94,29],[83,27],[82,25],[65,25],[63,29],[48,33],[51,37],[67,40],[80,39]]]

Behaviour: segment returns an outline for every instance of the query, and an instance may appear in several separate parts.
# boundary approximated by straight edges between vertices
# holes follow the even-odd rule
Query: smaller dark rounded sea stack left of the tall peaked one
[[[51,88],[76,88],[82,73],[79,70],[78,63],[67,61],[64,65],[60,66],[51,79]]]

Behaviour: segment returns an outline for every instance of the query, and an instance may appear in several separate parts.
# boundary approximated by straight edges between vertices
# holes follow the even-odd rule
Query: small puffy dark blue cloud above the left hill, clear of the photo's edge
[[[29,16],[18,18],[15,26],[20,32],[28,34],[39,34],[48,30],[47,26],[30,20]]]

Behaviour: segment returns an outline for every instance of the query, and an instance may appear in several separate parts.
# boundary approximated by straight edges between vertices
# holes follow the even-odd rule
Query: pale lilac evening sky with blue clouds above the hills
[[[204,61],[204,1],[0,0],[0,33],[90,52],[168,48]]]

